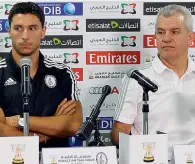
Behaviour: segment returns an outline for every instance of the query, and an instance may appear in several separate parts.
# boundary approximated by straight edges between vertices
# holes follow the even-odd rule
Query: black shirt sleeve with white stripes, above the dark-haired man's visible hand
[[[74,72],[68,66],[63,71],[64,73],[63,73],[62,88],[63,88],[65,98],[67,98],[68,100],[79,101],[78,86],[77,86],[77,81]]]

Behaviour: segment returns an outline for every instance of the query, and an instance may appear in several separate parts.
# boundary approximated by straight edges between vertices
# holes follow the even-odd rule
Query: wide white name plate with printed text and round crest
[[[117,164],[116,147],[43,148],[43,164]]]

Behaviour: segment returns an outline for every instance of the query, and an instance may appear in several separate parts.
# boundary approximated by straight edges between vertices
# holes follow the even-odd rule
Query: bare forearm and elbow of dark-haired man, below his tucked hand
[[[75,101],[73,114],[61,114],[50,117],[30,117],[30,130],[52,137],[74,136],[80,128],[83,115],[81,103]]]

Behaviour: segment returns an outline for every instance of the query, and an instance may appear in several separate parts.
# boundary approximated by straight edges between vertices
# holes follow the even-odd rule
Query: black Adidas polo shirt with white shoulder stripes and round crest
[[[70,67],[39,55],[39,67],[31,79],[30,116],[53,116],[64,99],[78,100],[76,79]],[[22,115],[21,69],[12,52],[0,56],[0,107],[6,117]],[[53,138],[42,147],[65,147],[68,139]]]

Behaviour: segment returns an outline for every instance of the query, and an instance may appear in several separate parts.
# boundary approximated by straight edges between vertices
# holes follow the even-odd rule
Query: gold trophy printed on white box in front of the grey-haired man
[[[143,148],[146,151],[146,154],[143,159],[144,162],[154,161],[154,156],[152,154],[152,150],[154,149],[154,147],[155,147],[155,142],[144,142],[143,143]]]

